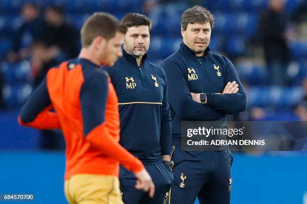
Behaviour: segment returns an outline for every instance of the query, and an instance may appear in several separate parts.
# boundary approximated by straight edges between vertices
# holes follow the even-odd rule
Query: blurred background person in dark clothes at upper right
[[[286,85],[290,51],[287,46],[284,0],[269,0],[268,9],[260,14],[259,37],[271,85]]]

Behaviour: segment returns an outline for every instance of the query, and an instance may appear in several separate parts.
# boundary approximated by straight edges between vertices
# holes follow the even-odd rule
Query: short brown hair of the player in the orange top
[[[117,31],[125,34],[127,27],[122,25],[114,15],[106,12],[95,12],[87,18],[81,28],[82,47],[89,46],[97,36],[109,40],[114,37]]]

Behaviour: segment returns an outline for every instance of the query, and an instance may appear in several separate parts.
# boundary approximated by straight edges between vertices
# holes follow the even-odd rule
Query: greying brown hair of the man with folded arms
[[[211,29],[214,25],[214,17],[212,13],[204,8],[203,6],[195,5],[192,8],[188,8],[184,11],[184,13],[181,15],[181,27],[186,30],[189,23],[194,22],[210,22]]]

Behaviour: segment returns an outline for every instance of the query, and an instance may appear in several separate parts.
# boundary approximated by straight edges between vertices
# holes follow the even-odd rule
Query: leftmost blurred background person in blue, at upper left
[[[13,50],[8,54],[8,60],[11,62],[27,58],[32,41],[39,39],[42,33],[44,22],[40,17],[40,8],[35,3],[25,3],[21,16],[22,22],[15,31]]]

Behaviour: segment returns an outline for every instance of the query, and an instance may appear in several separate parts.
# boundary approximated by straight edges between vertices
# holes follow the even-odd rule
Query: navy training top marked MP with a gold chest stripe
[[[171,112],[167,78],[161,66],[136,58],[122,48],[123,56],[108,71],[118,97],[120,144],[144,164],[160,162],[171,154]]]

